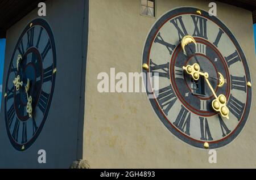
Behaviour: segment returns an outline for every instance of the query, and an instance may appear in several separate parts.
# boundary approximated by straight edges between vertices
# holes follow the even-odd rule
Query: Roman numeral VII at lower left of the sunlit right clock
[[[185,130],[185,134],[190,135],[190,119],[191,113],[187,109],[185,109],[183,105],[181,105],[181,110],[177,115],[174,125],[179,128],[180,131],[184,132]]]

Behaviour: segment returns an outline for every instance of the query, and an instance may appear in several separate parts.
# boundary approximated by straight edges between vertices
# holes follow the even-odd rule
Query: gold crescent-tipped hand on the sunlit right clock
[[[181,48],[183,49],[183,52],[186,55],[187,55],[187,52],[185,51],[185,46],[190,44],[190,43],[194,43],[195,45],[197,45],[195,38],[193,38],[192,36],[189,36],[189,35],[184,36],[181,40]],[[191,51],[191,53],[193,54],[192,49],[189,46],[188,46],[188,48]],[[196,63],[200,66],[200,63],[199,63],[197,57],[194,56],[194,58],[196,59]],[[203,69],[201,69],[201,70],[203,71]],[[225,84],[225,80],[224,80],[224,77],[222,76],[222,74],[220,72],[218,72],[218,74],[220,75],[220,78],[213,78],[213,77],[210,77],[210,76],[208,78],[218,80],[218,87],[222,87]]]

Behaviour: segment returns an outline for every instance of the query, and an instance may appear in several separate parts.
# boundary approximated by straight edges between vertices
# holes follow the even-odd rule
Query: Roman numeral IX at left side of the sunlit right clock
[[[164,77],[170,79],[169,75],[169,62],[163,65],[156,65],[152,59],[150,59],[150,71],[152,72],[153,76],[157,75],[158,73],[159,77]]]

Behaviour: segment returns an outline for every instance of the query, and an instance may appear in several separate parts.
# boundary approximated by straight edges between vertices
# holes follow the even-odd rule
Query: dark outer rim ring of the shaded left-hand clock
[[[38,18],[38,19],[34,19],[32,20],[30,23],[28,23],[26,25],[26,27],[24,28],[23,32],[21,33],[21,35],[19,36],[19,40],[17,41],[16,43],[16,46],[14,48],[14,52],[13,52],[13,55],[11,57],[11,62],[10,62],[10,65],[9,65],[9,70],[8,70],[8,73],[7,73],[7,78],[6,78],[6,87],[5,87],[5,92],[7,92],[7,88],[8,88],[8,80],[9,80],[9,75],[10,75],[10,70],[11,70],[11,65],[13,64],[13,60],[14,60],[14,55],[15,55],[15,52],[16,52],[16,49],[18,48],[19,46],[19,42],[22,40],[22,37],[25,35],[25,33],[28,31],[28,29],[30,29],[30,24],[32,23],[32,26],[35,26],[35,25],[40,25],[42,26],[46,32],[47,32],[47,35],[49,37],[49,40],[51,42],[51,48],[52,48],[52,58],[53,58],[53,69],[56,68],[56,46],[55,46],[55,39],[54,39],[54,36],[53,36],[53,33],[52,33],[52,30],[51,30],[51,27],[49,26],[49,24],[46,22],[46,20],[42,19],[42,18]],[[25,52],[26,53],[26,52]],[[48,115],[48,112],[49,112],[49,108],[51,106],[51,101],[52,101],[52,96],[53,96],[53,92],[54,92],[54,88],[55,88],[55,78],[56,78],[56,73],[54,73],[52,75],[52,85],[51,85],[51,92],[50,92],[50,95],[49,95],[49,101],[48,101],[48,104],[47,104],[47,108],[46,108],[46,112],[44,113],[44,116],[43,116],[43,119],[42,119],[42,122],[40,123],[39,127],[38,127],[38,130],[35,132],[35,135],[30,139],[28,140],[27,143],[24,143],[24,144],[19,144],[17,143],[14,139],[13,139],[13,136],[11,135],[11,132],[9,130],[9,126],[8,126],[8,118],[7,118],[7,109],[6,109],[6,104],[7,104],[7,99],[5,98],[5,124],[6,124],[6,131],[7,131],[7,135],[9,137],[9,140],[11,142],[11,144],[13,145],[13,147],[17,150],[17,151],[25,151],[26,149],[30,148],[31,145],[35,142],[35,140],[38,138],[40,132],[42,131],[43,129],[43,126],[44,126],[44,123],[46,122],[46,119],[47,119],[47,115]],[[24,148],[22,148],[24,145]]]

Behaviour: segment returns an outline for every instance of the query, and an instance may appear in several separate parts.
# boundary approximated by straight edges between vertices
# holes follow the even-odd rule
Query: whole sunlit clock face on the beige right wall
[[[191,39],[183,43],[186,35]],[[199,148],[219,148],[245,126],[251,106],[249,67],[233,33],[215,16],[192,7],[164,14],[148,34],[144,64],[143,72],[151,73],[145,84],[159,78],[158,89],[147,88],[154,95],[152,108],[177,138]]]

